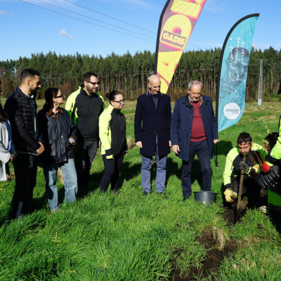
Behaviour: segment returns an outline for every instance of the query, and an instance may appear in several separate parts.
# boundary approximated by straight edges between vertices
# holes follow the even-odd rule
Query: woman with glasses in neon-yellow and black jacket
[[[111,183],[111,190],[118,192],[119,171],[124,154],[127,154],[126,120],[121,112],[125,99],[118,91],[106,94],[109,106],[99,117],[99,137],[105,171],[101,179],[101,192],[106,192]]]

